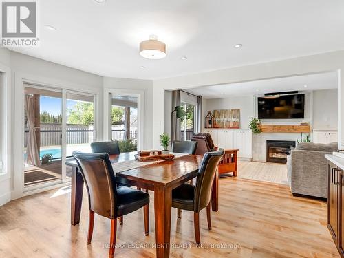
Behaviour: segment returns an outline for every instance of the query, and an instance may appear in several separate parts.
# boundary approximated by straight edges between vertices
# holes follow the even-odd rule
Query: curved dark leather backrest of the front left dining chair
[[[107,153],[82,153],[73,151],[86,184],[89,209],[114,219],[117,217],[116,178]]]

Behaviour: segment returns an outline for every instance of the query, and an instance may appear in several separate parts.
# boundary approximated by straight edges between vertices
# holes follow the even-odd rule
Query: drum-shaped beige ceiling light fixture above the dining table
[[[150,35],[148,41],[140,43],[140,55],[148,59],[161,59],[166,56],[166,44],[158,41],[158,36]]]

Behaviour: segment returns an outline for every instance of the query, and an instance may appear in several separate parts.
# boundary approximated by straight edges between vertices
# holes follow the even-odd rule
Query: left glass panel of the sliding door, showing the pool
[[[25,86],[24,186],[61,181],[62,91]]]

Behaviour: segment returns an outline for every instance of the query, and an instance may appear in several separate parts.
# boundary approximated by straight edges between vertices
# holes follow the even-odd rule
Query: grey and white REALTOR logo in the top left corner
[[[35,47],[37,36],[37,1],[1,1],[1,45]]]

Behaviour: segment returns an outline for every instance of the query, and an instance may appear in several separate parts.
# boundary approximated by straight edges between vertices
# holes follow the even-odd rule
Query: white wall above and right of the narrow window
[[[105,77],[103,78],[103,87],[108,89],[141,89],[144,91],[144,149],[153,148],[153,81]]]

